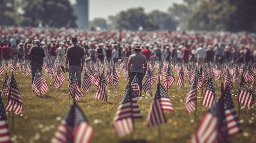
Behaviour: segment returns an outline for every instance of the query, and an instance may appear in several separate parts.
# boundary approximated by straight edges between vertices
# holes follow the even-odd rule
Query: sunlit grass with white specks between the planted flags
[[[10,69],[7,70],[10,73]],[[7,74],[7,75],[8,75]],[[16,81],[20,90],[20,95],[23,102],[23,110],[21,114],[14,115],[14,125],[12,123],[12,113],[7,112],[11,140],[13,143],[49,143],[54,136],[58,125],[65,116],[67,110],[72,105],[72,98],[68,93],[68,74],[65,73],[66,80],[58,90],[52,86],[54,79],[49,81],[48,73],[43,71],[45,79],[49,85],[49,90],[38,97],[32,92],[31,75],[27,77],[25,74],[16,73]],[[15,74],[14,74],[15,75]],[[120,74],[119,74],[120,75]],[[177,75],[175,75],[177,80]],[[55,78],[55,76],[54,76]],[[217,97],[220,97],[221,81],[213,81]],[[4,83],[4,75],[0,77],[0,85]],[[97,87],[86,92],[83,97],[76,100],[79,107],[88,119],[88,122],[94,128],[94,136],[92,143],[128,143],[131,142],[131,136],[127,135],[123,138],[118,138],[112,128],[112,120],[119,104],[124,97],[124,91],[127,85],[124,77],[119,78],[119,85],[112,93],[112,87],[108,85],[108,102],[94,99]],[[153,85],[153,94],[155,92],[156,83]],[[207,111],[207,107],[202,106],[201,91],[198,91],[197,98],[197,117],[195,113],[188,114],[185,110],[186,97],[189,92],[190,84],[185,79],[185,88],[181,90],[180,86],[173,84],[168,90],[168,95],[171,99],[175,112],[165,112],[167,123],[161,125],[162,143],[190,143],[191,135],[195,131],[202,115]],[[234,83],[232,95],[233,101],[238,111],[236,96],[238,95],[238,86]],[[254,95],[256,88],[253,88]],[[136,143],[156,143],[158,142],[158,127],[147,127],[146,117],[153,99],[150,95],[142,92],[142,97],[137,98],[139,108],[141,109],[143,119],[135,119],[135,132],[133,141]],[[8,97],[3,98],[4,105],[7,103]],[[233,143],[255,143],[256,142],[256,105],[252,108],[240,108],[240,123],[243,132],[231,138]]]

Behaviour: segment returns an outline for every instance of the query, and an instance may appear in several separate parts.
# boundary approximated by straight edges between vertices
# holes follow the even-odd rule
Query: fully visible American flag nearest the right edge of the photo
[[[236,101],[244,104],[244,106],[252,106],[254,101],[252,90],[249,88],[243,77],[241,77],[240,90]]]

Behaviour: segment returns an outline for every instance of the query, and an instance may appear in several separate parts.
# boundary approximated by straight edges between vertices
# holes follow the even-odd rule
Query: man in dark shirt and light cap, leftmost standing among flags
[[[34,81],[34,77],[36,74],[36,70],[42,71],[43,67],[43,58],[45,57],[45,51],[43,47],[40,45],[40,41],[37,39],[35,40],[35,46],[32,46],[29,49],[29,59],[31,59],[31,72],[32,72],[32,83]]]

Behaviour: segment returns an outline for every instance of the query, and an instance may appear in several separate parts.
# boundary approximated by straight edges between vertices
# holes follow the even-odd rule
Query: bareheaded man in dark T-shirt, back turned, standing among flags
[[[76,72],[78,85],[81,87],[81,73],[83,72],[83,64],[85,62],[85,53],[82,47],[77,46],[76,37],[72,37],[71,40],[73,45],[67,48],[65,71],[68,72],[68,77],[70,78],[74,70]],[[69,63],[69,67],[67,67],[67,63]]]

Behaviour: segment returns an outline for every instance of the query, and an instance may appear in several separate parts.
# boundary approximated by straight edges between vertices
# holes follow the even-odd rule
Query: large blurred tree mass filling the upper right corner
[[[209,0],[189,18],[188,27],[194,30],[256,31],[256,1]]]

